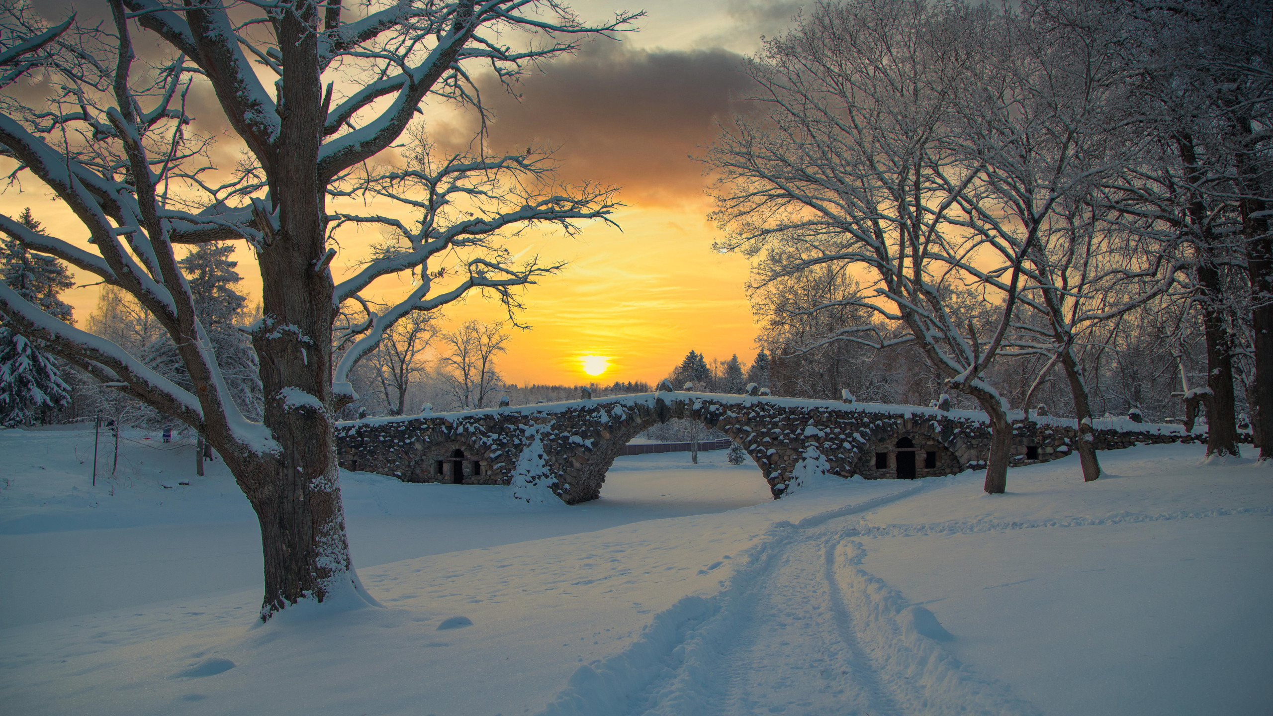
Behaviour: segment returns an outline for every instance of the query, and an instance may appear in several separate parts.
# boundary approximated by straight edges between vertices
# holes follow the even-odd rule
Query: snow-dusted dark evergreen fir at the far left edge
[[[18,220],[32,231],[41,229],[29,208]],[[32,254],[14,240],[0,240],[0,279],[46,313],[73,322],[71,307],[57,294],[75,283],[57,259]],[[42,348],[0,325],[0,424],[43,422],[50,410],[70,401],[71,389],[61,378],[61,367]]]

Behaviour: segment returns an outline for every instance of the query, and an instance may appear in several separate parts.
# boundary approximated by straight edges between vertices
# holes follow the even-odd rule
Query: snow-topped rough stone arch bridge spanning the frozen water
[[[339,423],[340,464],[404,482],[544,485],[574,505],[596,499],[622,447],[645,428],[694,419],[740,443],[774,497],[806,461],[841,476],[946,475],[984,464],[989,423],[975,410],[713,392],[648,392],[512,408]],[[1017,413],[1013,464],[1063,457],[1072,419]],[[1180,426],[1125,418],[1094,423],[1099,450],[1192,442]]]

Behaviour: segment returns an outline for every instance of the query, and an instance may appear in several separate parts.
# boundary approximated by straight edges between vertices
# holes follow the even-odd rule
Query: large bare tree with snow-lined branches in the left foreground
[[[435,153],[383,171],[376,158],[418,126],[423,103],[480,110],[472,73],[512,82],[635,15],[588,25],[550,0],[373,0],[354,10],[341,0],[111,0],[109,10],[104,23],[52,27],[20,5],[0,18],[0,83],[22,89],[15,83],[33,71],[52,78],[52,96],[38,103],[9,93],[0,147],[65,203],[90,246],[6,217],[0,231],[131,294],[177,347],[192,390],[3,284],[0,312],[104,385],[206,436],[260,519],[262,619],[307,599],[370,601],[350,563],[334,441],[334,413],[355,399],[350,369],[412,311],[472,290],[495,292],[512,310],[518,287],[558,268],[514,262],[503,232],[540,223],[569,232],[615,206],[597,187],[554,185],[545,157],[530,149]],[[140,61],[136,33],[169,51]],[[236,167],[214,166],[207,138],[191,125],[190,92],[201,83],[246,148]],[[401,199],[414,220],[328,209],[330,196],[360,191]],[[331,232],[345,222],[396,233],[336,284]],[[251,245],[260,264],[264,317],[251,338],[262,423],[229,399],[178,266],[178,245],[225,240]],[[402,301],[386,307],[360,296],[395,275],[412,283]],[[334,335],[348,306],[360,319]],[[334,343],[345,348],[336,366]]]

